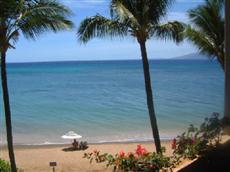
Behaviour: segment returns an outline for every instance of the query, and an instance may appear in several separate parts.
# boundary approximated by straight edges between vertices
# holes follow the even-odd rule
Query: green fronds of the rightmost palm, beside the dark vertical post
[[[201,53],[217,58],[224,70],[223,0],[206,0],[205,4],[188,12],[193,27],[188,26],[187,38]]]

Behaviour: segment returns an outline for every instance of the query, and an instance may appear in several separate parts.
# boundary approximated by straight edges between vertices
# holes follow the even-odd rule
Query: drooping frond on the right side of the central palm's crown
[[[162,25],[155,25],[150,30],[150,36],[160,39],[173,40],[179,43],[184,38],[185,24],[178,21],[168,22]]]

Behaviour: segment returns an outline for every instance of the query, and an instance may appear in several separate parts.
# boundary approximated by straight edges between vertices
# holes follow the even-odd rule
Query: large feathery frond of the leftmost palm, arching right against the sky
[[[25,37],[35,38],[47,30],[57,32],[72,28],[73,23],[67,19],[70,14],[67,7],[55,0],[37,0],[28,4],[16,25]]]

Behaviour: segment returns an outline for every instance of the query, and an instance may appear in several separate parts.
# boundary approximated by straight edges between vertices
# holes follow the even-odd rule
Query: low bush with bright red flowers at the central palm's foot
[[[165,150],[162,150],[163,152]],[[85,153],[84,158],[95,160],[97,163],[106,162],[107,166],[113,166],[114,171],[133,171],[133,172],[158,172],[160,169],[171,166],[170,158],[163,154],[148,152],[141,145],[137,145],[135,152],[125,153],[120,151],[115,156],[108,153],[101,154],[95,150],[92,153]]]

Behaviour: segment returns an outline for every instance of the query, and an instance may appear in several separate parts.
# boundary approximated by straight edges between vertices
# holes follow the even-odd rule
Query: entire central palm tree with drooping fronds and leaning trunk
[[[79,40],[88,42],[94,37],[133,36],[140,45],[147,105],[156,145],[156,151],[161,152],[161,143],[153,104],[149,62],[146,51],[146,41],[151,37],[172,39],[179,42],[183,25],[177,21],[160,23],[166,15],[172,0],[112,0],[110,6],[111,18],[99,14],[84,19],[78,29]]]

